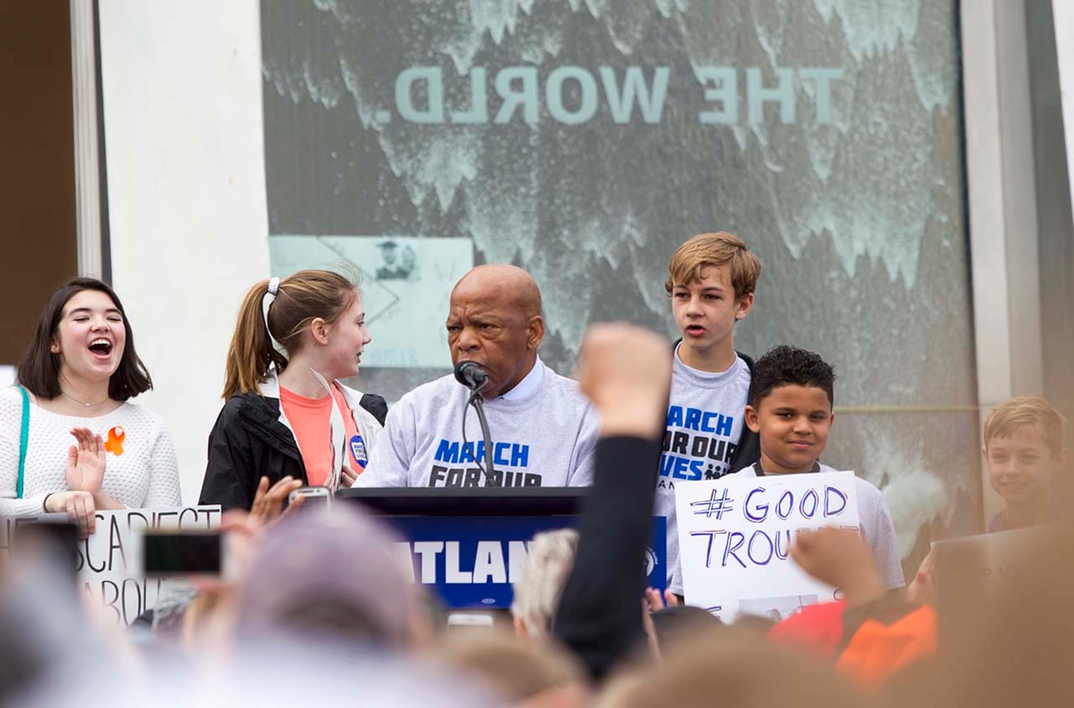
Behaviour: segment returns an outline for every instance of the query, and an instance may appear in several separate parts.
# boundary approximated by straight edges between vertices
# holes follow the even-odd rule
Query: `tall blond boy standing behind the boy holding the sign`
[[[682,590],[674,485],[715,480],[757,460],[743,422],[753,360],[735,351],[735,324],[753,307],[760,261],[726,232],[699,234],[671,255],[664,289],[682,338],[674,344],[654,514],[667,518],[668,589]]]

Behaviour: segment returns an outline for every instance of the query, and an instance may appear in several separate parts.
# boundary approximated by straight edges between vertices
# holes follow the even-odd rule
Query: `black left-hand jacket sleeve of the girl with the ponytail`
[[[253,473],[249,439],[238,421],[238,399],[229,400],[208,433],[208,463],[199,504],[249,510]]]

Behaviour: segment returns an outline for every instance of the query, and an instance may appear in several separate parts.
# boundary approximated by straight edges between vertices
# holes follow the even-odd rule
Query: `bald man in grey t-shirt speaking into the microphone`
[[[474,268],[451,291],[451,363],[476,362],[492,432],[493,472],[470,392],[447,375],[419,386],[388,412],[375,460],[359,487],[566,487],[593,481],[599,421],[578,383],[545,366],[540,290],[510,265]],[[463,419],[466,441],[463,441]],[[488,476],[488,480],[485,478]]]

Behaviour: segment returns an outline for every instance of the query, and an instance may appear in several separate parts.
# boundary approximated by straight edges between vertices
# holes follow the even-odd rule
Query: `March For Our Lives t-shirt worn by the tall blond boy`
[[[682,594],[682,573],[674,487],[681,482],[715,480],[731,471],[727,468],[742,438],[749,395],[750,367],[741,357],[736,356],[726,371],[711,373],[683,364],[676,348],[653,514],[667,517],[668,588],[678,594]]]

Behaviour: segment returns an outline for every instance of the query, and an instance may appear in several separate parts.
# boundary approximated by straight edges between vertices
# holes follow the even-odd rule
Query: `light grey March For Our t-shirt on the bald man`
[[[540,359],[504,396],[484,401],[494,477],[469,390],[453,375],[418,386],[388,411],[359,487],[579,487],[593,483],[599,421],[578,382]],[[463,415],[466,442],[463,443]],[[473,452],[469,452],[473,451]],[[476,458],[476,459],[475,459]]]

